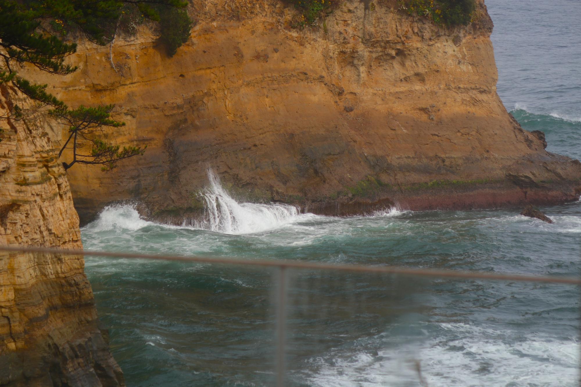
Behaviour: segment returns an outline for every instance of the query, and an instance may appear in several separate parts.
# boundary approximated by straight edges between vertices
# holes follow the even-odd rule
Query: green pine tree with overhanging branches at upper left
[[[63,162],[65,169],[74,164],[101,164],[103,170],[113,169],[117,162],[143,155],[145,148],[109,144],[98,138],[103,127],[117,128],[125,123],[110,118],[114,105],[70,109],[63,101],[46,91],[48,85],[38,85],[18,76],[17,68],[30,63],[51,74],[70,74],[77,67],[65,64],[67,56],[77,50],[77,44],[66,42],[70,31],[81,31],[88,40],[99,45],[111,42],[121,17],[134,10],[144,18],[160,24],[160,41],[168,55],[189,37],[192,21],[185,0],[0,0],[0,84],[10,83],[38,107],[48,107],[48,115],[69,126],[69,137],[59,152],[72,149],[73,160]],[[22,118],[15,105],[0,114],[0,120]],[[0,129],[0,135],[2,129]],[[0,141],[2,138],[0,137]],[[89,142],[88,154],[79,151]]]

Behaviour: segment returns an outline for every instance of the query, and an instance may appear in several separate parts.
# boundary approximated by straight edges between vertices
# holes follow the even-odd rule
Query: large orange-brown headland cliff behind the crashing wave
[[[116,103],[127,126],[109,138],[148,145],[111,173],[69,171],[81,219],[125,199],[180,218],[209,168],[245,199],[332,214],[576,199],[581,164],[546,152],[496,93],[483,2],[454,29],[395,3],[345,0],[299,30],[279,0],[209,0],[173,58],[146,26],[117,38],[116,70],[108,46],[81,44],[52,91]]]

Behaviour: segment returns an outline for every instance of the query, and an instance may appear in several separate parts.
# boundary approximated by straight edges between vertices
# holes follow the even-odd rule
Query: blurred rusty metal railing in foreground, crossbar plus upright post
[[[544,282],[554,284],[568,284],[581,285],[580,277],[555,277],[555,276],[532,276],[532,275],[517,275],[517,274],[492,274],[492,273],[476,273],[471,271],[460,270],[436,270],[429,268],[410,268],[403,266],[370,266],[370,265],[354,265],[354,264],[326,264],[326,263],[310,263],[303,261],[292,260],[249,260],[249,259],[233,259],[233,258],[210,258],[210,257],[196,257],[196,256],[176,256],[176,255],[146,255],[137,253],[119,253],[119,252],[103,252],[94,250],[64,250],[53,248],[34,248],[34,247],[8,247],[0,246],[0,252],[22,252],[22,253],[48,253],[59,255],[83,255],[83,256],[99,256],[99,257],[114,257],[114,258],[128,258],[128,259],[147,259],[147,260],[166,260],[166,261],[181,261],[181,262],[195,262],[195,263],[211,263],[211,264],[231,264],[238,266],[258,266],[278,269],[277,273],[277,295],[278,303],[276,321],[277,321],[277,350],[276,350],[276,385],[282,387],[284,385],[285,376],[285,332],[286,332],[286,270],[324,270],[324,271],[343,271],[352,273],[370,273],[370,274],[397,274],[407,277],[432,277],[432,278],[451,278],[451,279],[485,279],[489,281],[519,281],[519,282]]]

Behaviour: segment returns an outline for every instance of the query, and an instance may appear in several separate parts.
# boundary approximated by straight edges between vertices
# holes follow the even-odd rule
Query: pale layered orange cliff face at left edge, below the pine
[[[82,249],[69,182],[41,115],[0,84],[0,246]],[[0,385],[118,386],[83,256],[0,251]]]

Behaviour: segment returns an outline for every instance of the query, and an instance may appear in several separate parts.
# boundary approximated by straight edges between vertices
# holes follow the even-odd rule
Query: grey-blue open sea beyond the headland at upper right
[[[581,159],[581,1],[485,3],[504,106],[549,152]]]

